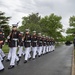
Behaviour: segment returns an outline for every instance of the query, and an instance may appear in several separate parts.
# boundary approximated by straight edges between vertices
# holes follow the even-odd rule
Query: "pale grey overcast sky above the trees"
[[[63,28],[67,29],[70,16],[75,13],[75,0],[0,0],[0,11],[11,16],[10,25],[22,21],[23,16],[39,13],[41,16],[62,16]],[[21,24],[21,22],[20,22]]]

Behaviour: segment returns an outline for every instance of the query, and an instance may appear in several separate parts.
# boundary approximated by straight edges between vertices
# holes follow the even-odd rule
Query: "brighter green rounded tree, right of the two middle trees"
[[[42,32],[47,33],[48,36],[52,36],[56,39],[56,37],[62,37],[62,24],[61,24],[61,16],[54,15],[53,13],[49,16],[45,16],[40,21],[40,26],[42,28]]]

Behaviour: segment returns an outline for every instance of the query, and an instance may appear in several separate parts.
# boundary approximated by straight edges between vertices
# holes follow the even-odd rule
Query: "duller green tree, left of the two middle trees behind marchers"
[[[24,16],[22,18],[22,26],[19,27],[21,31],[25,31],[26,28],[29,28],[31,33],[33,30],[36,30],[37,32],[41,32],[41,27],[39,26],[39,21],[41,17],[39,16],[39,13],[32,13],[29,16]]]

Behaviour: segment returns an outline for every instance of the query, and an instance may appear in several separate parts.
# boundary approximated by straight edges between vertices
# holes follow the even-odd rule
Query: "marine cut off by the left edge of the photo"
[[[2,51],[2,45],[4,44],[4,35],[2,29],[0,28],[0,71],[4,70],[4,66],[2,64],[3,58],[5,57],[4,52]]]

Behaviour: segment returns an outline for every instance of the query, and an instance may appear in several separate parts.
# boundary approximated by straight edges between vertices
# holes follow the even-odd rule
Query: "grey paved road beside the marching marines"
[[[0,75],[71,75],[73,46],[60,46],[54,52],[43,55],[24,64],[21,59],[18,66],[8,70],[9,63],[4,61],[5,71]]]

